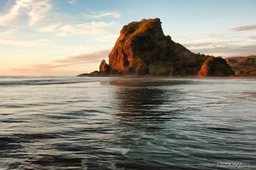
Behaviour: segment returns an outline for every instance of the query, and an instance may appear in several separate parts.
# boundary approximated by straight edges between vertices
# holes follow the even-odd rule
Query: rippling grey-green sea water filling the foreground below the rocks
[[[0,169],[256,169],[256,79],[0,77]]]

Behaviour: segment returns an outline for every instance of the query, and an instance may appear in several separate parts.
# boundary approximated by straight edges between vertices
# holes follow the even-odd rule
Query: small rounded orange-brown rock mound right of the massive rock
[[[235,75],[235,72],[227,64],[225,59],[221,57],[206,57],[198,76],[229,76]]]

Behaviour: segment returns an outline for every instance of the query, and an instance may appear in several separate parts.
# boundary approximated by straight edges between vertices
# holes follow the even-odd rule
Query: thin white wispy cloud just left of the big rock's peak
[[[91,23],[65,25],[61,27],[60,30],[62,31],[62,33],[70,35],[104,35],[111,34],[111,32],[113,31],[113,29],[111,28],[115,24],[115,21],[109,23],[93,21]]]

